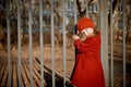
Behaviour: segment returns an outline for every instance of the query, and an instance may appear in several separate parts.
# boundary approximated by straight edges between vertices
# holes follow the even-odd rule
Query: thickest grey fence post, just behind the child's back
[[[108,1],[99,0],[100,4],[100,34],[102,34],[102,63],[104,67],[105,84],[108,87]]]

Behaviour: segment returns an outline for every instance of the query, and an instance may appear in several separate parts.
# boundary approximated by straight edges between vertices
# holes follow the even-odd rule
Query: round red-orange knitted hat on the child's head
[[[93,21],[88,17],[82,17],[78,21],[76,28],[79,32],[82,32],[85,28],[95,28]]]

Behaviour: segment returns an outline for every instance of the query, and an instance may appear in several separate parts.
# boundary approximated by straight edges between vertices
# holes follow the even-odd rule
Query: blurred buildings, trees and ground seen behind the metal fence
[[[70,76],[75,62],[75,49],[73,47],[72,35],[75,34],[74,26],[76,21],[82,16],[88,16],[94,21],[96,29],[100,29],[100,17],[103,17],[100,15],[100,12],[103,12],[100,8],[104,7],[99,4],[99,0],[64,0],[64,3],[63,0],[43,0],[43,24],[40,24],[39,0],[31,0],[32,9],[29,9],[29,0],[20,0],[20,3],[17,1],[19,0],[0,0],[0,87],[20,87],[20,79],[22,87],[29,87],[32,79],[31,67],[33,69],[33,87],[40,87],[43,78],[40,76],[41,62],[44,63],[44,86],[52,87],[52,69],[55,67],[56,87],[63,87],[64,75],[67,87],[70,87]],[[107,0],[107,4],[106,8],[108,11],[105,14],[108,18],[106,24],[106,26],[108,26],[108,39],[105,41],[108,41],[108,86],[112,87],[111,74],[114,74],[115,87],[130,87],[131,0],[127,0],[124,5],[122,4],[122,0]],[[20,10],[20,16],[17,10]],[[29,15],[29,10],[32,10],[32,16]],[[32,21],[29,21],[29,16]],[[10,21],[9,24],[8,20]],[[20,29],[17,29],[17,20],[20,20],[21,24]],[[32,25],[32,33],[29,32],[29,24]],[[43,30],[40,30],[40,26]],[[51,33],[52,28],[53,33]],[[21,33],[19,35],[20,30]],[[126,39],[126,64],[123,63],[123,30]],[[43,34],[41,36],[40,33]],[[29,50],[29,34],[32,34],[32,51]],[[43,51],[40,50],[40,37],[43,37]],[[19,44],[19,39],[21,44]],[[20,47],[21,49],[19,49]],[[111,47],[114,47],[114,51],[111,51]],[[19,54],[19,50],[21,50],[21,55]],[[111,58],[112,52],[114,59]],[[33,55],[32,60],[29,57],[31,53]],[[9,54],[10,59],[8,59]],[[44,60],[41,60],[41,57],[44,57]],[[20,58],[21,62],[19,62]],[[111,60],[114,60],[114,62],[111,62]],[[31,62],[33,62],[32,65]],[[21,71],[19,70],[20,64]],[[114,69],[111,67],[112,64]],[[126,65],[126,86],[123,86],[123,64]],[[9,65],[11,65],[11,67]],[[114,73],[111,73],[111,71],[114,71]],[[21,72],[21,78],[19,77],[19,72]],[[9,78],[11,79],[11,84],[9,84]]]

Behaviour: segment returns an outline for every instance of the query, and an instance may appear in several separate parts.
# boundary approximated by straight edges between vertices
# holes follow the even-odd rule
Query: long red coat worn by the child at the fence
[[[100,35],[74,41],[76,58],[71,83],[76,87],[105,87],[100,62]]]

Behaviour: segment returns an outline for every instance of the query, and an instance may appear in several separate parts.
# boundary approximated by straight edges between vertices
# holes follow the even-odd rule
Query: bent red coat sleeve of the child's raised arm
[[[74,41],[74,47],[79,52],[86,52],[92,49],[94,41],[95,39],[88,39],[87,41],[81,41],[80,39],[76,39]]]

